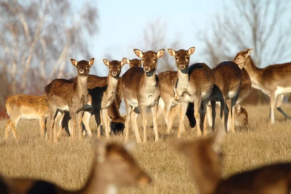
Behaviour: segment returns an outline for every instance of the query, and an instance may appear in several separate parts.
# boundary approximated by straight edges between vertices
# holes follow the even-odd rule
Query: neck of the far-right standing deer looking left
[[[261,89],[261,78],[262,78],[262,69],[258,68],[251,57],[248,58],[249,61],[244,66],[245,70],[250,76],[252,81],[252,87],[256,89]]]

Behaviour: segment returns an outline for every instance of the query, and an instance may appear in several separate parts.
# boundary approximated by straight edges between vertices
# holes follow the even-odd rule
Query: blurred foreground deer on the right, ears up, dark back
[[[291,163],[266,165],[222,178],[221,144],[225,131],[217,129],[209,138],[171,145],[188,158],[197,194],[290,194]]]

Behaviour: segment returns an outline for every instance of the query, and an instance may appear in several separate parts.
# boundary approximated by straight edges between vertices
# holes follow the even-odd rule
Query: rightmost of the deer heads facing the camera
[[[188,50],[180,49],[177,52],[173,49],[167,49],[169,54],[175,57],[176,66],[180,70],[188,69],[190,63],[190,55],[195,51],[195,47],[191,47]]]

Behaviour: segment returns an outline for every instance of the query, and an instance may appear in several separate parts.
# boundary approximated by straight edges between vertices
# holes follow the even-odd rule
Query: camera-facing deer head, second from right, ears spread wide
[[[158,59],[161,58],[165,52],[164,49],[159,50],[158,52],[154,52],[152,50],[143,51],[139,49],[133,49],[134,53],[140,57],[142,60],[142,64],[144,66],[145,72],[154,72],[157,69]]]

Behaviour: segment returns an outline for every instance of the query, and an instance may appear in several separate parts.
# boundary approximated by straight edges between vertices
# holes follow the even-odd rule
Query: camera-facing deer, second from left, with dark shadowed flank
[[[103,59],[103,63],[109,69],[108,76],[106,80],[99,79],[97,76],[90,76],[90,81],[88,81],[87,85],[87,87],[89,88],[89,101],[84,107],[85,112],[82,120],[88,135],[92,137],[92,132],[89,127],[89,120],[90,116],[94,113],[97,123],[97,137],[101,138],[101,131],[99,126],[101,123],[100,116],[102,116],[102,120],[104,121],[105,126],[106,137],[109,138],[110,133],[108,125],[108,109],[115,100],[115,92],[119,82],[119,75],[122,66],[126,63],[126,59],[122,59],[120,62],[117,60],[109,62],[107,59]],[[65,120],[65,123],[68,123],[68,118],[65,118]],[[64,128],[60,129],[60,131],[58,132],[58,136],[60,136],[63,129]]]

